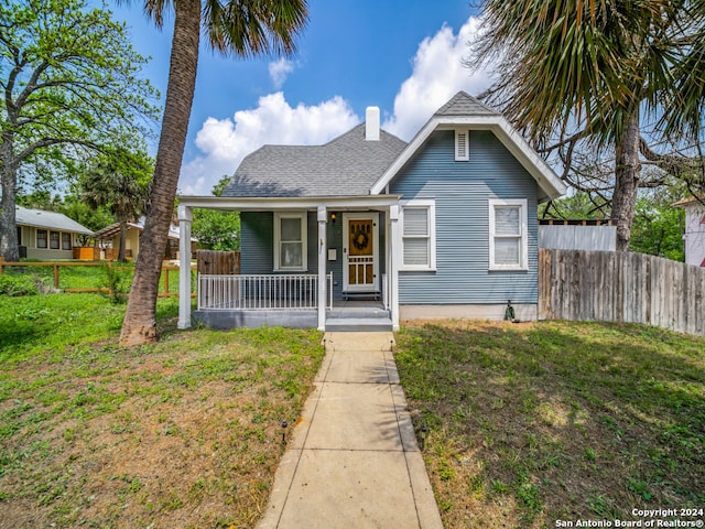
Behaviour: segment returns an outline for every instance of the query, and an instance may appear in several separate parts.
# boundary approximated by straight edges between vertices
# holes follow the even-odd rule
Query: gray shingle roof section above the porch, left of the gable
[[[384,130],[379,141],[366,141],[365,123],[324,145],[264,145],[242,160],[223,195],[369,195],[404,147]]]

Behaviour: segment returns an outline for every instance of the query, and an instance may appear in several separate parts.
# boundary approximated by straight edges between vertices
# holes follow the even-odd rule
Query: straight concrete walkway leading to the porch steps
[[[327,333],[259,529],[442,529],[391,333]]]

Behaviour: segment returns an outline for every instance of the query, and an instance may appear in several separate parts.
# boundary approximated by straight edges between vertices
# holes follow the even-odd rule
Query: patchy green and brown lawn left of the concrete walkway
[[[98,294],[0,298],[0,520],[253,527],[319,333],[180,332],[167,299],[160,343],[121,348],[123,311]]]

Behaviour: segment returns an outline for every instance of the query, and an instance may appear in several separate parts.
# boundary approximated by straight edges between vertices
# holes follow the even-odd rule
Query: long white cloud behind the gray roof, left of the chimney
[[[359,121],[339,96],[296,107],[281,91],[260,97],[254,109],[237,111],[232,118],[206,119],[195,140],[204,155],[183,165],[178,192],[208,195],[224,175],[235,173],[242,159],[263,144],[322,144]]]

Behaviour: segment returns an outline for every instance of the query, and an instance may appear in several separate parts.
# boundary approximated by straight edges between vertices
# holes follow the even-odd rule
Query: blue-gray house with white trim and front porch
[[[241,276],[200,276],[195,319],[219,327],[398,328],[400,320],[536,317],[536,206],[565,186],[497,111],[458,93],[410,143],[379,109],[324,145],[265,145],[221,197],[240,212]],[[182,241],[182,270],[189,256]],[[183,274],[181,327],[191,325]],[[360,301],[365,300],[365,301]],[[360,306],[361,305],[361,306]]]

